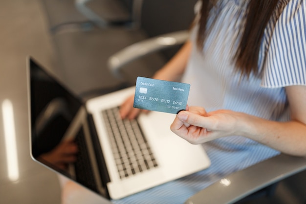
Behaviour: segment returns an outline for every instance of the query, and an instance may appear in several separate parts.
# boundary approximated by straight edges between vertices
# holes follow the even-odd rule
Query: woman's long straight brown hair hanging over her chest
[[[216,0],[202,0],[201,16],[197,34],[197,46],[202,47],[205,41],[206,22],[210,9]],[[250,0],[248,3],[246,23],[240,44],[234,55],[237,70],[247,77],[253,72],[258,74],[259,51],[264,29],[278,3],[278,0]]]

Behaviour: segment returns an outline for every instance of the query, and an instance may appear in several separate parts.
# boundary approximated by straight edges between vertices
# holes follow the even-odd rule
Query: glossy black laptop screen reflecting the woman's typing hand
[[[33,59],[30,59],[29,69],[32,157],[101,194],[96,187],[88,147],[95,149],[95,153],[99,150],[93,143],[88,146],[90,143],[85,141],[82,126],[74,131],[73,136],[66,136],[70,123],[83,107],[82,101]]]

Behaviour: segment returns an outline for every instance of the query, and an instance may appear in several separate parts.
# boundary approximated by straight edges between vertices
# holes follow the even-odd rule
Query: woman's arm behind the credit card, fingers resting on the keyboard
[[[185,71],[191,51],[191,43],[186,42],[175,56],[161,69],[156,71],[153,79],[166,81],[178,81]],[[120,115],[122,118],[135,118],[141,109],[133,108],[134,95],[131,95],[120,107]]]

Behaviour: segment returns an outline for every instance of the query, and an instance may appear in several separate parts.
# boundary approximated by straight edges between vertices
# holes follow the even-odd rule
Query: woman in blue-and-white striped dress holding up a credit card
[[[190,41],[153,78],[191,84],[171,130],[201,143],[212,165],[115,203],[182,203],[280,152],[306,156],[306,0],[201,0],[196,8]],[[132,101],[123,118],[140,112]]]

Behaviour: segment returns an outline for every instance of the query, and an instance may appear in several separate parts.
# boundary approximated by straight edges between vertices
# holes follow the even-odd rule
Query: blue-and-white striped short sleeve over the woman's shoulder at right
[[[266,47],[266,87],[306,84],[306,0],[287,1]]]

